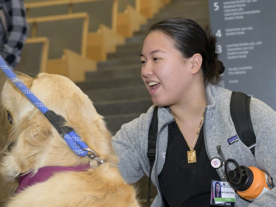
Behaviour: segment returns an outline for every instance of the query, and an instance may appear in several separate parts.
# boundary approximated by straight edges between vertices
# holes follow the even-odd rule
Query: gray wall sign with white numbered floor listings
[[[276,0],[208,2],[210,26],[225,66],[225,88],[276,110]]]

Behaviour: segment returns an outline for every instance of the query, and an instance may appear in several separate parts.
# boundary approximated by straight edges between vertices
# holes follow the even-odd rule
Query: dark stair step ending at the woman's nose
[[[119,78],[126,76],[139,76],[141,74],[141,64],[135,67],[120,68],[120,69],[101,69],[95,72],[87,72],[86,80],[98,78]]]

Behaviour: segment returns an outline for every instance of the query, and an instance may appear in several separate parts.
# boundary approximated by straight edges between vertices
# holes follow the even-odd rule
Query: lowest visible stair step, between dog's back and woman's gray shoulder
[[[121,129],[121,125],[138,118],[140,115],[141,113],[131,113],[104,116],[104,121],[106,122],[107,129],[112,133],[112,135],[115,135]]]

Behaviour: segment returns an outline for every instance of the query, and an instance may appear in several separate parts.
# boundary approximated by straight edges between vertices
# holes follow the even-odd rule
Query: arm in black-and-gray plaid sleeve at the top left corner
[[[0,49],[0,55],[10,69],[20,62],[20,55],[27,38],[28,23],[23,0],[3,0],[3,12],[7,20],[7,36]]]

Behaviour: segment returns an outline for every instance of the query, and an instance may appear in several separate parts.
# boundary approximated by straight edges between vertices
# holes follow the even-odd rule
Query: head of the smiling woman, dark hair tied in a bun
[[[170,24],[175,24],[176,28]],[[210,30],[205,34],[190,20],[176,18],[152,25],[140,57],[142,79],[155,105],[181,104],[190,93],[198,91],[205,99],[205,82],[214,83],[224,71],[217,55],[209,57],[215,53],[215,41]],[[151,87],[151,82],[157,82],[159,86]]]

